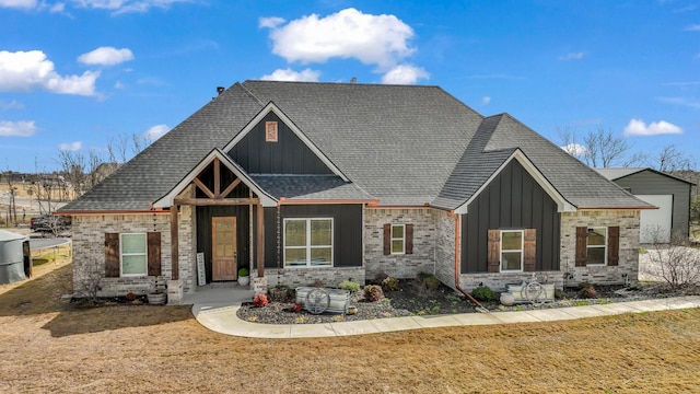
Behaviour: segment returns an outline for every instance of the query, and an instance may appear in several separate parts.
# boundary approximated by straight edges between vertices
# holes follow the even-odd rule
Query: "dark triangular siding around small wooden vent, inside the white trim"
[[[265,140],[266,121],[277,121],[277,142]],[[275,113],[265,116],[228,153],[248,174],[332,174]]]

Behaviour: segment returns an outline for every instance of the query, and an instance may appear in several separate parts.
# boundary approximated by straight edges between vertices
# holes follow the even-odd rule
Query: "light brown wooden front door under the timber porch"
[[[211,280],[236,280],[236,218],[211,218]]]

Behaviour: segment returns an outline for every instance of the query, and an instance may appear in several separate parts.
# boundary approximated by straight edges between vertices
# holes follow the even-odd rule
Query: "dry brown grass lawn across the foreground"
[[[74,310],[71,265],[0,286],[2,393],[700,393],[700,310],[247,339],[189,306]]]

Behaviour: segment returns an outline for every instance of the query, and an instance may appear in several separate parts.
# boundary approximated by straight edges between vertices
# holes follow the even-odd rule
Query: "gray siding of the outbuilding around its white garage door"
[[[688,234],[691,184],[664,174],[644,170],[614,181],[633,195],[673,195],[670,229]]]

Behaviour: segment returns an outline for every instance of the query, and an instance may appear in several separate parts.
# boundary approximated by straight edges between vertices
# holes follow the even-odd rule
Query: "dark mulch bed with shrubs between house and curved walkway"
[[[397,291],[385,291],[384,298],[375,302],[365,300],[362,291],[352,293],[350,296],[350,305],[357,306],[355,314],[294,312],[294,298],[291,297],[293,294],[290,294],[285,300],[272,301],[264,308],[255,308],[252,302],[244,303],[238,309],[237,315],[244,321],[254,323],[317,324],[478,312],[475,305],[462,293],[445,286],[441,286],[438,290],[428,290],[418,286],[415,280],[406,279],[399,282],[399,287],[400,289]],[[498,300],[494,300],[481,302],[481,304],[490,311],[525,311],[700,294],[700,288],[698,287],[670,291],[662,285],[629,288],[625,286],[596,286],[595,289],[597,292],[595,299],[582,299],[579,297],[579,289],[567,288],[562,297],[555,302],[503,306]]]

